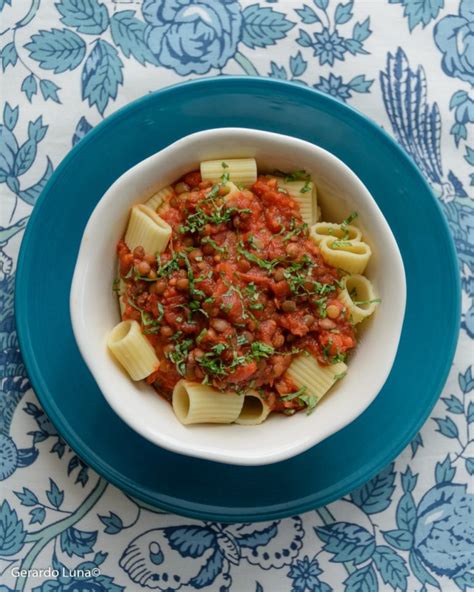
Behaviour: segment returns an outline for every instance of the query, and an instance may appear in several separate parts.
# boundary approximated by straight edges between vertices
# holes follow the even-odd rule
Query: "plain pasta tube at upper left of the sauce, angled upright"
[[[171,236],[171,226],[156,212],[145,205],[132,208],[125,243],[133,251],[135,247],[143,247],[148,255],[162,253]]]

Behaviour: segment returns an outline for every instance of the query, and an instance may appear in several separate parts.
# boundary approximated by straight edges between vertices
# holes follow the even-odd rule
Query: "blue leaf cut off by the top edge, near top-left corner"
[[[109,13],[97,0],[61,0],[56,4],[61,22],[79,33],[100,35],[109,26]]]

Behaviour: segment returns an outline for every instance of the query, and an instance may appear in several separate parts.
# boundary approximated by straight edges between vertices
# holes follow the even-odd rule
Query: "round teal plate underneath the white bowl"
[[[384,213],[407,276],[398,355],[374,403],[311,450],[262,467],[180,456],[133,432],[107,405],[86,368],[69,317],[79,243],[106,189],[178,138],[229,126],[299,137],[342,159]],[[327,504],[393,460],[421,428],[446,381],[459,304],[447,223],[409,157],[350,107],[299,85],[258,78],[202,79],[167,88],[120,109],[89,132],[58,166],[34,208],[16,283],[28,373],[68,444],[129,494],[171,512],[226,522],[269,520]]]

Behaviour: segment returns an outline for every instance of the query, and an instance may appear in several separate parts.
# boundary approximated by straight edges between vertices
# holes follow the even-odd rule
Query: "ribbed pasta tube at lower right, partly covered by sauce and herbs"
[[[298,388],[306,387],[308,395],[319,401],[346,370],[344,362],[320,366],[313,356],[300,355],[291,362],[286,373]]]

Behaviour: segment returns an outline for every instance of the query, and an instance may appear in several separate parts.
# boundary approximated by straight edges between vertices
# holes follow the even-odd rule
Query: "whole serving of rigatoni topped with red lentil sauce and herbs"
[[[110,351],[184,425],[309,414],[378,303],[357,215],[316,222],[305,171],[258,175],[254,159],[225,158],[200,169],[131,210]]]

